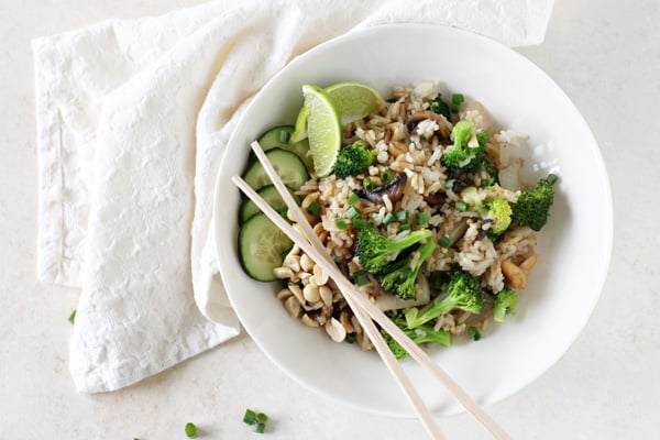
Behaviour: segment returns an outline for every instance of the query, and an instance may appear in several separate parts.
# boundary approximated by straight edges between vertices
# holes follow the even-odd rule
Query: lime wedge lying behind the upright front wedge
[[[378,90],[355,81],[333,84],[324,90],[334,103],[342,125],[369,116],[383,100]]]

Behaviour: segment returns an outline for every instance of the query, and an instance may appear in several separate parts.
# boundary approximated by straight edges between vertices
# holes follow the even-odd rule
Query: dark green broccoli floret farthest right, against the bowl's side
[[[558,177],[549,174],[548,177],[539,179],[535,189],[522,189],[518,201],[513,206],[514,217],[520,224],[526,224],[535,231],[540,231],[548,222],[548,215],[554,201],[554,189],[552,186]]]

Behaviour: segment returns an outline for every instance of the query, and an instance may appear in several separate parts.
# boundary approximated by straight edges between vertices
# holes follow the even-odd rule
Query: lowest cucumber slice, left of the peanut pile
[[[239,255],[245,273],[260,282],[274,282],[275,267],[282,266],[292,240],[265,213],[250,217],[239,230]]]

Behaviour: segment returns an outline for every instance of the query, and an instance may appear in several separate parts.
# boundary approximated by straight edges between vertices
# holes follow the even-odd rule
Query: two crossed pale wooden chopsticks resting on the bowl
[[[256,157],[262,163],[266,174],[271,177],[273,185],[279,193],[279,196],[285,201],[294,220],[302,230],[300,234],[292,227],[277,211],[275,211],[263,198],[261,198],[250,185],[240,176],[233,176],[233,183],[275,223],[284,233],[286,233],[294,243],[296,243],[316,264],[319,264],[323,272],[334,280],[337,287],[341,290],[349,307],[352,309],[355,318],[362,324],[366,336],[370,338],[374,348],[385,362],[385,365],[403,389],[404,394],[410,402],[415,413],[422,422],[427,432],[432,439],[444,439],[444,435],[440,430],[436,419],[431,415],[428,407],[413,386],[410,380],[405,374],[399,362],[394,358],[394,354],[387,346],[381,332],[376,328],[376,321],[394,338],[413,359],[415,359],[425,370],[436,377],[447,391],[468,410],[482,426],[487,429],[496,439],[510,439],[502,427],[493,420],[438,364],[436,364],[429,355],[421,350],[410,338],[408,338],[402,329],[399,329],[383,311],[375,305],[369,301],[358,287],[351,283],[337,267],[328,251],[314,232],[302,210],[295,202],[290,193],[285,187],[284,183],[271,165],[258,142],[251,144]]]

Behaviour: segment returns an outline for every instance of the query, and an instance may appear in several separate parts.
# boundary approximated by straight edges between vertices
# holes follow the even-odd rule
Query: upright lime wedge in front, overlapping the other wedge
[[[341,120],[332,100],[319,87],[302,86],[302,97],[314,170],[324,177],[332,172],[341,146]]]

